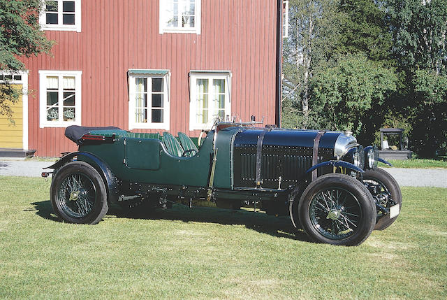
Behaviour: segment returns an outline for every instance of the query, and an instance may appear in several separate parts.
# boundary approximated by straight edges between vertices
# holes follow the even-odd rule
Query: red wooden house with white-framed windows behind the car
[[[190,136],[217,115],[279,124],[282,0],[54,2],[41,15],[53,55],[23,59],[17,81],[31,91],[22,148],[73,151],[71,124]]]

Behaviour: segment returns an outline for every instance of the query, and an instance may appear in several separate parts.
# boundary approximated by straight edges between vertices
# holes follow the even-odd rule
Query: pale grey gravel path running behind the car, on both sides
[[[34,160],[12,160],[0,158],[0,176],[41,177],[42,168],[54,162],[36,162]],[[447,169],[404,169],[386,168],[397,183],[409,187],[446,187]],[[47,169],[47,171],[51,171]]]

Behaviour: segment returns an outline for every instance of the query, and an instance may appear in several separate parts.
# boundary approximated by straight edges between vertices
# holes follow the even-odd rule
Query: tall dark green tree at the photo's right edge
[[[447,0],[383,2],[400,70],[400,103],[420,157],[446,152]]]

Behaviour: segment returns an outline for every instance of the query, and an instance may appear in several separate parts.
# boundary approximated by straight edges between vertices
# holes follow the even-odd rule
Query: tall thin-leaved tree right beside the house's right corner
[[[314,127],[309,117],[309,80],[337,43],[339,0],[291,0],[284,41],[283,126]]]

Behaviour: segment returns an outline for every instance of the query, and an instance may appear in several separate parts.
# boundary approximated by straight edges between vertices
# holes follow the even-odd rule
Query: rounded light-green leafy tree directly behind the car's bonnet
[[[395,73],[380,63],[362,54],[338,57],[312,78],[314,122],[321,128],[359,135],[395,90]]]

